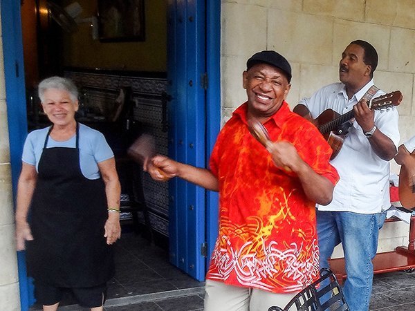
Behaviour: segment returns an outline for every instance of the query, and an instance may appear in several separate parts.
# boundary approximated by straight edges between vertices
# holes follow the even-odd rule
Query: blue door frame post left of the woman
[[[20,1],[1,0],[1,30],[3,36],[4,74],[10,138],[12,190],[15,198],[21,169],[21,151],[28,133],[24,85],[24,60],[21,36]],[[17,252],[21,310],[26,311],[35,301],[33,283],[26,276],[24,252]]]

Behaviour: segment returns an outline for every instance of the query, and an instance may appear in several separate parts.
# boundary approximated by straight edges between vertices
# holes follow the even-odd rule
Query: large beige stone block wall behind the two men
[[[242,71],[253,53],[272,49],[287,57],[293,67],[287,101],[293,107],[337,82],[342,51],[363,39],[378,50],[376,85],[403,93],[401,140],[415,135],[415,0],[223,0],[221,14],[222,123],[246,100]],[[394,161],[391,167],[398,172]],[[379,251],[407,243],[407,232],[405,223],[385,225]]]

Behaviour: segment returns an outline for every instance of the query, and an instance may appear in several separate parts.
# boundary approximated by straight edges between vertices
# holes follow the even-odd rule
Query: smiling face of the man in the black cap
[[[248,114],[264,120],[278,111],[290,91],[286,75],[275,66],[260,63],[243,72]]]

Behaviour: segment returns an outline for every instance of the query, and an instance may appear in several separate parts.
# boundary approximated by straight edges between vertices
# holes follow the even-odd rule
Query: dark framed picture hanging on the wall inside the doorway
[[[98,0],[101,42],[144,41],[144,0]]]

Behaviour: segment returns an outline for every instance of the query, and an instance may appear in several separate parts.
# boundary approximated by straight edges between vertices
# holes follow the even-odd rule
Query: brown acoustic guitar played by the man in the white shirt
[[[367,104],[370,109],[380,110],[388,109],[391,106],[398,106],[402,101],[403,96],[400,91],[394,91],[381,95],[368,101]],[[354,111],[351,110],[344,115],[340,115],[333,111],[333,109],[327,109],[323,111],[317,118],[311,120],[320,133],[323,134],[333,153],[331,154],[330,160],[333,160],[342,149],[344,135],[347,134],[347,129],[353,124]]]

